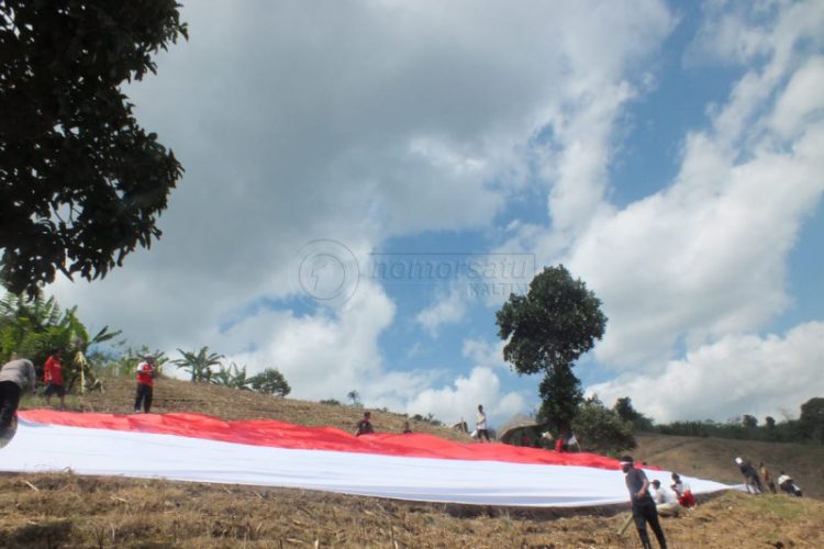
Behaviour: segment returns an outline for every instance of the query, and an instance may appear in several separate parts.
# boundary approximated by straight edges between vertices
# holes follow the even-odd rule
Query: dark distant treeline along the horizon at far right
[[[630,397],[619,399],[613,410],[624,421],[631,422],[636,433],[824,445],[824,397],[810,399],[802,404],[798,419],[776,422],[773,417],[767,416],[761,425],[755,416],[748,414],[723,423],[704,419],[656,425],[632,407]]]

